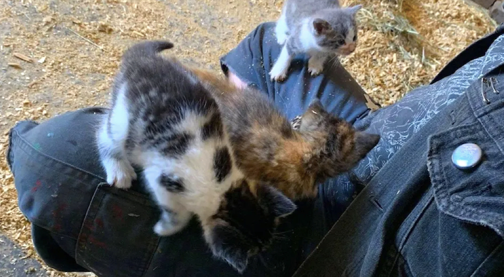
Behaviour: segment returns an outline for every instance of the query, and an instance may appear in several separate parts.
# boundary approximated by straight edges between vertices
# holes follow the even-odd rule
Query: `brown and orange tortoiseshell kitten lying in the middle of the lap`
[[[380,140],[380,135],[357,131],[331,115],[319,100],[291,126],[265,94],[191,70],[216,88],[211,91],[239,168],[247,178],[268,182],[291,199],[316,196],[318,183],[353,168]]]

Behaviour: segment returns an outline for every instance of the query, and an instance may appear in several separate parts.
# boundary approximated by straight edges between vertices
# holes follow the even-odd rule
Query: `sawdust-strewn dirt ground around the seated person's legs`
[[[463,0],[344,2],[356,3],[364,5],[359,46],[343,64],[384,105],[427,83],[457,52],[495,27]],[[16,121],[106,105],[120,55],[138,40],[170,40],[175,44],[170,54],[218,71],[218,58],[258,24],[274,21],[282,4],[0,0],[0,232],[36,257],[5,160],[7,131]]]

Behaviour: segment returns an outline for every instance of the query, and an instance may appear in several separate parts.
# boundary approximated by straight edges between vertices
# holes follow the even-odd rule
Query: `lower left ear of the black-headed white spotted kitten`
[[[227,224],[217,225],[211,231],[210,248],[213,254],[243,273],[248,263],[250,241],[239,230]]]

